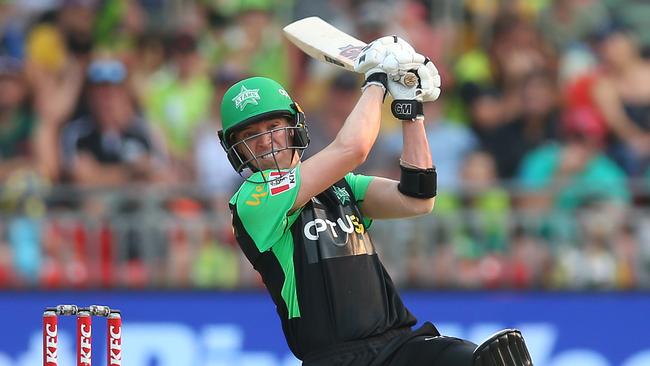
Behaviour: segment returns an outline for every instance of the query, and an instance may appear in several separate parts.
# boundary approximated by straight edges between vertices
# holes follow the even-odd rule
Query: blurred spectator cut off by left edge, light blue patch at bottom
[[[10,254],[0,272],[5,281],[24,284],[38,278],[46,187],[36,173],[42,165],[34,143],[39,125],[30,102],[23,64],[0,56],[0,217],[9,244],[0,239],[0,251]]]

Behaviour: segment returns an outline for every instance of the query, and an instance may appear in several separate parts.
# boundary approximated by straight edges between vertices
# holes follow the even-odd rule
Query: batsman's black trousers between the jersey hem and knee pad
[[[431,323],[392,337],[357,341],[305,359],[303,366],[472,366],[476,344],[440,336]]]

